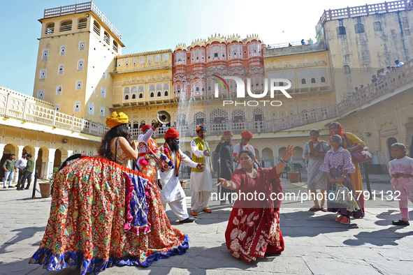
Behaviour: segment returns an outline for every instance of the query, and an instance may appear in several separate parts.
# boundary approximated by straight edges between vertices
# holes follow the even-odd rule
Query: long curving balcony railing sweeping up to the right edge
[[[243,121],[243,122],[226,122],[223,124],[215,124],[210,121],[204,121],[205,126],[208,128],[208,135],[222,135],[224,131],[232,131],[234,134],[240,134],[244,130],[251,131],[252,133],[276,133],[278,131],[286,130],[288,128],[294,128],[303,126],[306,124],[312,124],[318,121],[324,121],[327,119],[334,119],[344,114],[356,110],[362,105],[372,103],[375,99],[390,94],[405,86],[406,84],[413,83],[413,59],[406,62],[405,65],[393,69],[387,73],[385,77],[381,78],[375,83],[370,83],[363,89],[359,89],[356,94],[349,96],[344,101],[336,105],[320,107],[312,111],[302,112],[300,114],[294,114],[280,119],[264,120],[264,121]],[[196,135],[196,124],[184,124],[178,125],[175,128],[180,129],[183,136]],[[154,137],[164,137],[168,128],[160,127],[154,132]],[[142,133],[140,129],[131,129],[133,139],[138,139],[138,135]]]

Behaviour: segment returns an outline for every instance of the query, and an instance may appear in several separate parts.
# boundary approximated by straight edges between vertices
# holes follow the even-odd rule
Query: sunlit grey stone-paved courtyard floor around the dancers
[[[372,191],[393,191],[386,175],[370,180]],[[305,182],[283,180],[283,186],[284,193],[307,191]],[[28,264],[43,237],[50,200],[32,200],[31,190],[0,189],[0,274],[79,273],[77,267],[48,272]],[[190,198],[187,203],[189,207]],[[172,225],[189,235],[184,255],[153,262],[148,268],[111,267],[101,274],[412,274],[413,224],[391,225],[400,218],[398,202],[382,200],[380,195],[365,202],[365,218],[353,220],[350,228],[335,222],[336,214],[308,211],[312,202],[284,201],[280,227],[285,250],[249,263],[233,258],[226,248],[231,207],[217,201],[210,207],[211,214],[198,214],[194,223],[187,224],[178,223],[167,209]]]

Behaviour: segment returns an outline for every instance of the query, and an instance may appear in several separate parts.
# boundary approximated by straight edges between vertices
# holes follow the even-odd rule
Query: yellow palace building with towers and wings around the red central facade
[[[262,58],[267,81],[290,80],[292,96],[277,93],[275,98],[261,98],[266,105],[242,105],[242,101],[225,105],[224,101],[236,101],[233,94],[215,98],[209,93],[210,82],[204,87],[208,95],[194,91],[194,96],[185,100],[177,96],[184,87],[173,85],[174,53],[182,54],[175,65],[183,63],[191,54],[196,58],[196,50],[206,42],[196,41],[189,48],[178,45],[174,51],[122,55],[122,35],[93,3],[46,9],[39,20],[42,27],[34,97],[0,89],[4,98],[0,101],[0,151],[19,155],[24,150],[34,152],[36,165],[46,177],[66,156],[96,154],[101,135],[108,130],[105,119],[116,110],[129,116],[133,139],[141,133],[140,126],[154,123],[158,112],[167,112],[170,123],[161,126],[154,137],[163,143],[165,131],[175,125],[181,133],[180,146],[189,156],[189,142],[196,137],[198,124],[206,124],[212,150],[223,131],[233,131],[234,144],[240,141],[242,131],[252,131],[250,143],[266,167],[280,160],[287,144],[297,149],[294,162],[304,166],[303,147],[310,139],[310,129],[321,130],[321,139],[328,141],[328,124],[338,120],[345,131],[368,144],[372,164],[386,164],[392,142],[403,142],[409,148],[412,144],[413,12],[392,9],[391,3],[377,5],[387,8],[375,13],[375,5],[352,7],[340,16],[338,10],[326,10],[317,24],[314,44],[263,47],[262,57],[254,57],[252,62]],[[240,37],[234,39],[219,35],[217,41],[212,40],[219,45],[229,43],[228,47],[238,43],[240,54],[253,50],[247,45],[243,48]],[[259,38],[254,35],[247,40]],[[208,59],[208,49],[205,53]],[[371,82],[378,68],[394,66],[396,59],[405,65],[392,70],[381,82]],[[203,66],[203,62],[198,63],[194,66]],[[354,93],[354,87],[361,84],[364,88]],[[193,89],[189,82],[187,88]],[[273,106],[270,101],[282,104]]]

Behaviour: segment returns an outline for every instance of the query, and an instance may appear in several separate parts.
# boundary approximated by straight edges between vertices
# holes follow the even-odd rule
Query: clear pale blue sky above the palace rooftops
[[[80,1],[80,3],[86,1]],[[383,1],[367,1],[380,3]],[[38,40],[45,8],[73,0],[2,1],[0,86],[33,94]],[[360,0],[96,0],[96,6],[122,33],[123,54],[175,49],[211,34],[258,34],[263,43],[307,40],[329,8],[365,4]]]

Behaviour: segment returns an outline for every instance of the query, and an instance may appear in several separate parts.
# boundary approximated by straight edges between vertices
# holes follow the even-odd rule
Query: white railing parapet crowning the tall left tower
[[[74,5],[69,5],[69,6],[60,6],[57,8],[46,8],[45,13],[43,15],[43,18],[50,18],[50,17],[56,17],[56,16],[61,16],[61,15],[71,15],[75,13],[85,13],[87,11],[92,11],[99,19],[103,22],[103,24],[106,24],[106,27],[112,32],[114,36],[119,39],[119,41],[122,41],[122,34],[120,31],[118,31],[113,24],[106,18],[105,15],[99,10],[99,8],[96,7],[92,1],[90,2],[85,2],[85,3],[75,3]]]

